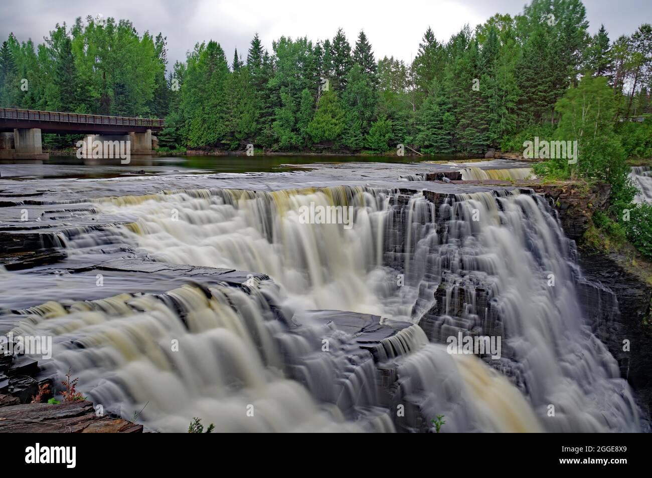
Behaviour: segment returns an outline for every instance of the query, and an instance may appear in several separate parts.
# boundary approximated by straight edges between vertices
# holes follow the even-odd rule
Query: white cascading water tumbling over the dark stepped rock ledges
[[[353,227],[303,223],[310,204],[351,206]],[[108,236],[151,259],[274,282],[21,312],[15,333],[57,337],[52,371],[83,371],[82,389],[123,416],[145,406],[140,419],[152,429],[183,430],[201,416],[224,430],[416,430],[437,414],[445,431],[639,429],[614,358],[582,319],[572,242],[536,197],[187,190],[96,207],[132,221]],[[90,237],[68,238],[70,253],[89,253],[107,234]],[[352,355],[346,333],[299,314],[310,309],[413,325],[372,359]],[[448,353],[441,343],[459,332],[502,337],[501,358]],[[167,352],[175,338],[179,355]],[[393,370],[391,393],[378,370]],[[259,421],[246,421],[248,404],[262,410]],[[394,416],[400,404],[405,424]]]

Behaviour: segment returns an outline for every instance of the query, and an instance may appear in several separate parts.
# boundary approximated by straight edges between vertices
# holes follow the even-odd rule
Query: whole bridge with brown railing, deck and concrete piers
[[[89,145],[94,141],[130,141],[131,154],[152,154],[158,145],[152,133],[162,130],[164,122],[155,118],[0,108],[0,160],[48,159],[42,149],[42,133],[84,134],[83,141]]]

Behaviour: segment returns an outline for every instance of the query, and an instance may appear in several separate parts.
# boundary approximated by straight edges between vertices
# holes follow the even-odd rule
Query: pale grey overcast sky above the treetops
[[[10,32],[23,41],[41,43],[56,23],[74,23],[78,16],[127,18],[139,33],[149,30],[168,37],[170,63],[184,60],[196,42],[216,40],[231,61],[233,48],[246,57],[254,33],[271,50],[281,35],[333,38],[342,27],[355,43],[364,29],[376,57],[409,61],[428,25],[437,39],[447,40],[469,23],[475,27],[493,14],[516,14],[525,0],[3,0],[0,41]],[[604,23],[610,38],[632,33],[652,21],[651,0],[585,0],[589,29]]]

